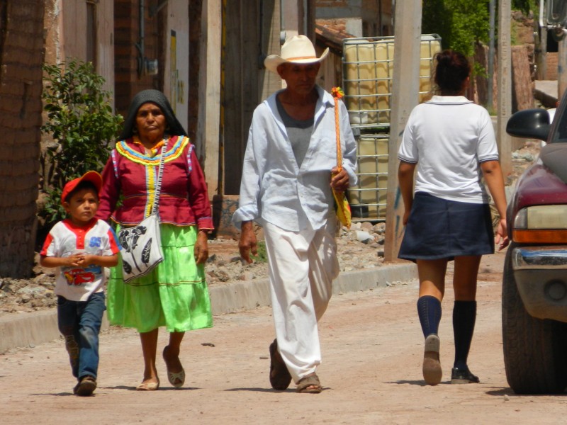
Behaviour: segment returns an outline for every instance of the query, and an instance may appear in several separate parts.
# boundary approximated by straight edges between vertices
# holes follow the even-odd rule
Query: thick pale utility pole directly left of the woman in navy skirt
[[[405,123],[417,105],[420,92],[422,3],[395,2],[394,74],[392,81],[388,188],[386,192],[386,240],[384,259],[396,261],[403,236],[403,200],[398,183],[398,148]]]

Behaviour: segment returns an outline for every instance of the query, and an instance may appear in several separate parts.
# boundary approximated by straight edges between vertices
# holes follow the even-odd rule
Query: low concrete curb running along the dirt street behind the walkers
[[[388,264],[377,268],[342,272],[333,282],[333,294],[357,292],[386,283],[417,278],[417,266],[413,263]],[[267,279],[228,283],[209,287],[213,314],[239,312],[255,307],[271,305]],[[109,324],[104,317],[102,329]],[[57,311],[9,314],[0,317],[0,353],[9,348],[34,346],[60,338],[57,329]]]

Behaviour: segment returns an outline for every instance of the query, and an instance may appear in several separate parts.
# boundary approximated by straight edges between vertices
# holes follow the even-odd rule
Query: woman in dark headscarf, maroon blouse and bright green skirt
[[[122,263],[108,280],[108,320],[140,332],[144,376],[137,390],[157,390],[158,328],[169,331],[163,350],[167,378],[184,384],[179,348],[185,331],[211,327],[204,263],[213,229],[203,171],[193,145],[162,92],[144,90],[130,105],[123,132],[103,170],[97,217],[118,227],[137,225],[149,215],[162,146],[164,173],[159,194],[164,261],[149,274],[125,283]],[[121,196],[120,206],[118,199]]]

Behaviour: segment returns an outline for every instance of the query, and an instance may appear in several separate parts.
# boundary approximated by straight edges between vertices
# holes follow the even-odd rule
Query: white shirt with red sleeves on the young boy
[[[85,227],[79,227],[67,219],[52,227],[40,254],[54,257],[67,257],[79,252],[114,255],[120,251],[119,246],[116,234],[107,222],[93,219]],[[67,300],[86,301],[92,293],[103,291],[105,281],[102,266],[57,267],[55,294]]]

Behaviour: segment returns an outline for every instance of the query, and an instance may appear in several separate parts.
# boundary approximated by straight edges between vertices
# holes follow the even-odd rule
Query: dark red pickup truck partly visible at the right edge
[[[518,394],[567,386],[567,100],[553,123],[544,109],[519,111],[506,131],[539,139],[539,158],[518,179],[507,208],[502,327],[508,384]]]

